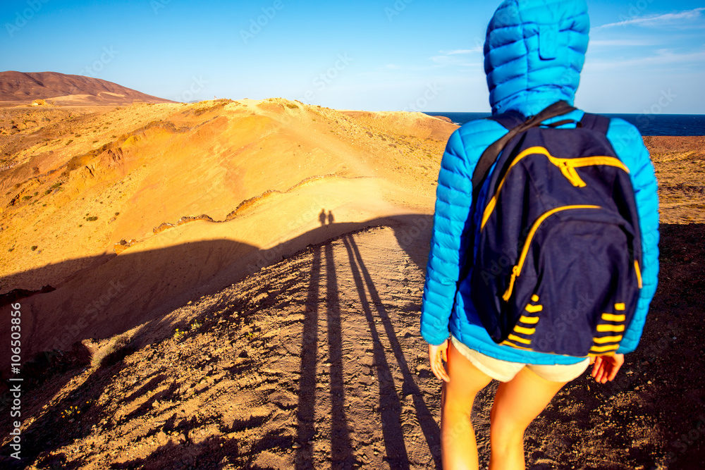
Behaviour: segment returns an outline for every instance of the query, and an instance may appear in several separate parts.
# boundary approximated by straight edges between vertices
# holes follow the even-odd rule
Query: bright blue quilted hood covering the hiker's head
[[[492,113],[534,116],[573,104],[587,51],[585,0],[505,0],[487,27],[484,69]]]

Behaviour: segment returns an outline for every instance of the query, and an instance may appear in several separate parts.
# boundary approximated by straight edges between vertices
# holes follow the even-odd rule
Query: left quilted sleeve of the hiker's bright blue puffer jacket
[[[431,251],[422,300],[421,333],[439,345],[448,339],[448,319],[453,309],[463,254],[461,235],[472,206],[472,173],[459,130],[448,139],[441,160]]]

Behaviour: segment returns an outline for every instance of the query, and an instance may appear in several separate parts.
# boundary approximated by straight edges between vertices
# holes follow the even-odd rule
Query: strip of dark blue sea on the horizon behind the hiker
[[[486,118],[490,113],[426,113],[446,116],[463,125],[471,120]],[[634,124],[642,135],[705,135],[705,114],[607,114]]]

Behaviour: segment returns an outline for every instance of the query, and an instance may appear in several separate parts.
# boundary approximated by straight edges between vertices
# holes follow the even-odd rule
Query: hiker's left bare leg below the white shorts
[[[477,442],[470,414],[477,392],[492,380],[451,343],[448,376],[441,399],[441,458],[443,469],[477,469]]]

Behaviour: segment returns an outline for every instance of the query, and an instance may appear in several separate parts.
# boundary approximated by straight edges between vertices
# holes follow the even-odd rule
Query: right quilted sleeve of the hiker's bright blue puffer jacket
[[[654,298],[658,283],[658,185],[651,163],[649,151],[639,131],[621,119],[612,119],[607,137],[612,142],[619,158],[630,169],[634,187],[639,228],[642,232],[642,290],[634,319],[627,328],[617,351],[620,354],[632,352],[642,337],[646,313]]]

